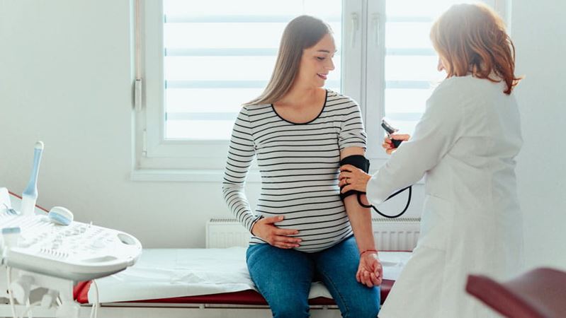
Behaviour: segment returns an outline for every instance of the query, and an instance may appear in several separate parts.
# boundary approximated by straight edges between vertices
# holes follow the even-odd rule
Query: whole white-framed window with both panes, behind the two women
[[[240,105],[266,86],[283,29],[301,14],[332,26],[338,52],[327,87],[360,103],[368,156],[384,158],[380,118],[412,133],[443,78],[431,23],[456,2],[142,1],[145,99],[135,119],[135,167],[222,170]]]

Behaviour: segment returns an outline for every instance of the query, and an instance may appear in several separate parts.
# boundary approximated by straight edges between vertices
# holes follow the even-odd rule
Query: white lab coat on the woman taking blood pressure
[[[472,76],[444,80],[410,141],[370,179],[376,206],[425,177],[419,242],[379,317],[497,317],[465,283],[469,273],[506,279],[523,265],[514,172],[521,127],[504,88]]]

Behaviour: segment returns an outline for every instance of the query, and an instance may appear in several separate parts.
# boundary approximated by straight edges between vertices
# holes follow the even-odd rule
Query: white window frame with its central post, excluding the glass
[[[135,112],[132,179],[142,181],[217,182],[222,178],[229,141],[167,141],[164,139],[164,64],[162,1],[140,1],[142,105]],[[510,0],[484,0],[509,22]],[[136,8],[135,8],[136,9]],[[380,148],[385,90],[385,1],[343,0],[341,88],[361,107],[368,132],[372,167],[387,155]],[[375,89],[379,87],[380,89]],[[239,102],[234,100],[234,105]],[[368,107],[370,105],[370,107]],[[248,178],[259,182],[252,167]]]

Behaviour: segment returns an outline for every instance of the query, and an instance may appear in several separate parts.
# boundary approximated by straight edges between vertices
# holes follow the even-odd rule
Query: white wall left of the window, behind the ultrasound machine
[[[130,1],[0,3],[0,184],[22,192],[43,140],[38,204],[147,247],[202,246],[219,184],[129,181]]]

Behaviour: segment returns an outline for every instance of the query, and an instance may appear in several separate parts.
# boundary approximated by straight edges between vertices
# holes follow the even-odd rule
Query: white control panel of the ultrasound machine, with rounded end
[[[142,252],[140,241],[125,232],[76,221],[59,225],[45,215],[13,211],[0,207],[0,228],[18,229],[11,246],[3,242],[2,255],[3,264],[16,269],[88,281],[132,266]]]

